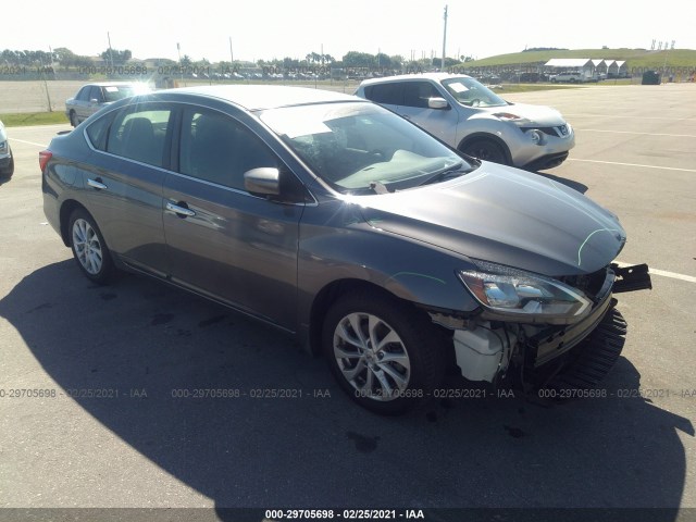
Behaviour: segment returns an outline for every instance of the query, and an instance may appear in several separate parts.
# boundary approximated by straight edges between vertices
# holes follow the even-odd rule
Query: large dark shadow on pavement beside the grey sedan
[[[98,287],[63,261],[21,281],[0,315],[74,390],[62,400],[217,508],[650,507],[676,519],[686,473],[678,431],[694,428],[619,391],[641,384],[624,358],[607,398],[542,408],[488,393],[380,418],[291,339],[144,277]],[[89,389],[120,396],[82,395]]]

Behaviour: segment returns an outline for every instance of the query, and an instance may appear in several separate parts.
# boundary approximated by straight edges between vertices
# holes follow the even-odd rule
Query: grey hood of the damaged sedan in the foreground
[[[357,202],[364,220],[382,231],[549,276],[595,272],[625,243],[616,215],[582,194],[496,163]]]

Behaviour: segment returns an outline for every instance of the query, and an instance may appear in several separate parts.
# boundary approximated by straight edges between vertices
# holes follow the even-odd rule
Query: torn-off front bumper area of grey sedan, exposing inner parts
[[[525,324],[486,320],[485,314],[457,323],[442,313],[431,316],[453,330],[457,364],[470,381],[497,385],[505,380],[525,390],[561,382],[592,387],[609,372],[623,348],[626,325],[614,310],[612,294],[652,285],[646,264],[612,264],[597,287],[592,311],[573,324]]]

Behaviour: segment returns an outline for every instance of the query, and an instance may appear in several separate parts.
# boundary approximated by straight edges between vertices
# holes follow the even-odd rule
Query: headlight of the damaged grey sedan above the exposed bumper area
[[[529,322],[574,322],[592,309],[592,301],[581,290],[560,281],[486,261],[475,264],[478,270],[460,271],[459,277],[476,300],[496,314]]]

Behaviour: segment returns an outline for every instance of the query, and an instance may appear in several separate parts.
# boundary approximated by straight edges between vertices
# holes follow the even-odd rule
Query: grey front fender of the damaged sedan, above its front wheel
[[[358,206],[307,209],[298,252],[299,324],[308,325],[313,299],[336,282],[358,281],[426,308],[473,312],[477,303],[457,271],[463,256],[366,223]]]

